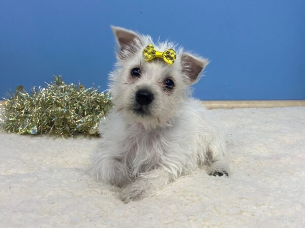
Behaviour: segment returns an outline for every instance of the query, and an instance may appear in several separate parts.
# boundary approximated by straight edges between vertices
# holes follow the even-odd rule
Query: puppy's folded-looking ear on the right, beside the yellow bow
[[[198,81],[198,76],[208,64],[208,59],[184,53],[181,55],[181,60],[182,71],[188,76],[189,83],[196,83]]]

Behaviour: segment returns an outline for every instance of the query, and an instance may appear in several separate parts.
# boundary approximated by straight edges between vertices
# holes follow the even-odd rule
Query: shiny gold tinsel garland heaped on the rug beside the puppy
[[[0,104],[0,127],[18,134],[96,134],[112,107],[110,94],[80,84],[67,85],[60,76],[53,79],[45,88],[34,87],[30,94],[18,86]]]

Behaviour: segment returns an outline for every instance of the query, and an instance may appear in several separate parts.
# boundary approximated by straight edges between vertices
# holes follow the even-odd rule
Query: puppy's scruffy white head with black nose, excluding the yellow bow
[[[170,125],[207,59],[185,53],[171,42],[154,44],[150,36],[120,27],[112,26],[112,30],[118,44],[116,68],[110,73],[116,111],[145,128]],[[149,44],[160,52],[174,49],[175,62],[170,65],[162,58],[146,61],[142,52]]]

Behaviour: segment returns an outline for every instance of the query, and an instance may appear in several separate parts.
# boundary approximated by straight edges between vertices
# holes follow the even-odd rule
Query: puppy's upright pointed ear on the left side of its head
[[[119,47],[118,57],[120,59],[124,58],[124,52],[133,51],[133,45],[139,43],[141,41],[140,36],[131,30],[116,27],[111,25],[111,29],[116,38],[117,45]]]

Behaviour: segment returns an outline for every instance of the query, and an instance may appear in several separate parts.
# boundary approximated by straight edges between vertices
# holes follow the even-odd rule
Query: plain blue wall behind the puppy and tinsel
[[[211,60],[201,99],[305,99],[305,1],[0,0],[0,96],[62,74],[107,88],[110,24]]]

